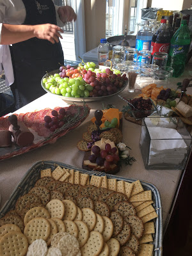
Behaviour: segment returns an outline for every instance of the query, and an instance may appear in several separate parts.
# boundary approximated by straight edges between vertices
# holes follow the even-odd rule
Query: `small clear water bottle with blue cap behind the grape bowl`
[[[98,64],[107,66],[107,60],[109,60],[109,47],[106,38],[100,39],[100,44],[97,48]]]

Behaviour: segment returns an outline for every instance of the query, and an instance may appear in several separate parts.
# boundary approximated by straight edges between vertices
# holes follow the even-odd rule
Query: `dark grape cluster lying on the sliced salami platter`
[[[47,129],[50,129],[50,131],[54,132],[56,129],[62,127],[65,124],[65,121],[67,119],[67,116],[70,116],[70,111],[65,111],[65,108],[61,108],[58,111],[52,110],[51,116],[45,116],[45,127]]]

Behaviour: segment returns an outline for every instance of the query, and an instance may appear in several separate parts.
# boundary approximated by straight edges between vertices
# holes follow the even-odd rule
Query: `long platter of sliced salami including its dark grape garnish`
[[[60,111],[63,111],[62,115]],[[17,118],[20,130],[22,130],[18,130],[18,132],[14,130],[15,127],[11,127],[9,116],[1,117],[0,160],[24,154],[47,143],[54,143],[67,132],[76,129],[88,117],[89,113],[90,108],[86,104],[83,106],[72,104],[66,108],[45,108],[33,112],[20,113],[19,115],[15,114],[13,116]],[[45,122],[45,116],[48,116],[46,121],[51,122]],[[32,143],[26,145],[18,142],[19,136],[24,132],[23,129],[32,135]],[[4,132],[7,138],[5,138]],[[15,134],[17,136],[14,136]],[[24,141],[26,141],[26,138],[24,138]]]

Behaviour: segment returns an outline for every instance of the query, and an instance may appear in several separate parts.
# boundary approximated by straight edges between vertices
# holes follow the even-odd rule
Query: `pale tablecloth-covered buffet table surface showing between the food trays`
[[[176,88],[176,83],[181,82],[184,78],[190,77],[189,70],[191,65],[186,68],[186,74],[179,79],[172,78],[168,82],[169,88]],[[120,93],[122,97],[132,98],[139,92],[128,93],[127,88]],[[192,88],[188,89],[188,93],[192,94]],[[54,108],[56,106],[65,107],[72,102],[62,100],[56,95],[46,93],[44,96],[34,100],[24,108],[19,109],[16,113],[26,113],[28,111],[35,111],[35,109]],[[77,104],[83,104],[83,102],[76,102]],[[126,102],[120,99],[117,95],[109,97],[108,99],[94,102],[87,102],[91,108],[90,115],[79,127],[70,131],[62,138],[58,139],[56,143],[45,145],[41,148],[36,148],[31,152],[15,156],[10,159],[6,159],[0,162],[0,195],[1,203],[0,209],[3,207],[6,200],[8,200],[15,186],[22,179],[24,174],[40,160],[52,160],[61,163],[70,164],[75,167],[81,168],[84,152],[77,149],[77,141],[81,140],[83,132],[86,131],[90,119],[93,117],[95,109],[102,109],[108,104],[113,104],[116,108],[122,109],[126,105]],[[161,203],[163,207],[163,226],[164,229],[168,225],[169,214],[172,210],[172,202],[177,195],[177,188],[179,188],[180,177],[183,170],[146,170],[141,157],[139,148],[141,126],[128,122],[123,118],[122,132],[123,142],[129,146],[131,150],[131,156],[136,158],[136,161],[132,166],[122,166],[120,172],[116,175],[140,179],[150,182],[159,189],[161,195]]]

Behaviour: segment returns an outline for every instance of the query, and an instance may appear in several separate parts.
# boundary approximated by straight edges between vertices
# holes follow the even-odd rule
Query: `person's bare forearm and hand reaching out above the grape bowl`
[[[2,24],[0,44],[15,44],[33,37],[45,39],[54,44],[59,42],[59,37],[62,38],[60,32],[63,32],[63,30],[54,24],[33,26]]]

